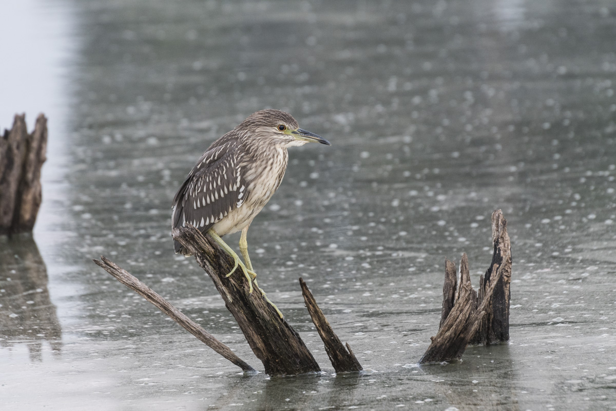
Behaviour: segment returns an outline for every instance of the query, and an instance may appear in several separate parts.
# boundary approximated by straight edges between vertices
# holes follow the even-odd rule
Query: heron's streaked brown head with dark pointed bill
[[[238,131],[250,139],[276,147],[293,147],[309,142],[331,145],[331,143],[314,132],[299,128],[298,121],[289,113],[280,110],[261,110],[253,113],[237,126]]]

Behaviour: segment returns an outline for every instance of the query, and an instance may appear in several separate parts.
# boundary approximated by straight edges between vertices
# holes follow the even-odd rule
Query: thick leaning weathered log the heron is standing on
[[[172,236],[195,256],[213,280],[267,374],[281,376],[320,371],[299,334],[280,318],[259,289],[248,293],[248,282],[239,268],[225,277],[233,269],[233,259],[216,242],[192,226],[174,229]]]

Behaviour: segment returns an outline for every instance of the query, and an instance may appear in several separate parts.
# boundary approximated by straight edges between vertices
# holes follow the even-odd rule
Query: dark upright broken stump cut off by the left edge
[[[0,136],[0,235],[31,232],[41,206],[41,167],[47,152],[47,118],[40,114],[32,134],[25,115]]]

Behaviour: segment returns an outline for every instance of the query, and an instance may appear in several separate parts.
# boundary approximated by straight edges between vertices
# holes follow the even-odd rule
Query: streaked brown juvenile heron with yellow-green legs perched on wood
[[[287,149],[309,142],[331,145],[323,137],[299,128],[289,113],[260,110],[205,150],[173,198],[172,229],[190,224],[208,233],[235,261],[227,277],[240,267],[249,293],[253,292],[253,282],[257,288],[259,285],[248,255],[248,227],[280,187],[289,160]],[[238,231],[244,262],[221,238]],[[177,240],[174,249],[176,254],[190,255]],[[259,290],[282,318],[278,307]]]

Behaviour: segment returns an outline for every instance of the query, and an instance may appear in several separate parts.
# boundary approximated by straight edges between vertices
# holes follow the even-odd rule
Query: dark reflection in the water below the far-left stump
[[[47,290],[47,267],[31,235],[0,238],[0,346],[28,344],[41,360],[43,341],[62,348],[62,329]]]

